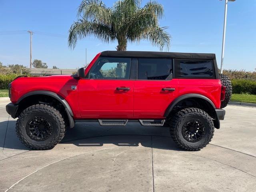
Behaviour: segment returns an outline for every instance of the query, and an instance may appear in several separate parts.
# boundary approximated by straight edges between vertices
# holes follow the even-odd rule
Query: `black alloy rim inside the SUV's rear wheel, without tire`
[[[182,136],[188,142],[198,142],[205,135],[205,126],[199,119],[190,119],[182,126]]]

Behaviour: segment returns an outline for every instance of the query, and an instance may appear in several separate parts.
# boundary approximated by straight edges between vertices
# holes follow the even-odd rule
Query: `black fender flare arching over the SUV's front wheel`
[[[69,120],[69,124],[70,124],[70,128],[73,128],[75,123],[74,123],[74,119],[73,119],[73,112],[68,104],[68,102],[62,98],[62,96],[59,96],[58,94],[51,92],[51,91],[45,91],[45,90],[39,90],[39,91],[31,91],[28,92],[26,94],[24,94],[23,96],[21,96],[19,98],[19,100],[16,102],[16,104],[19,104],[20,101],[22,101],[24,98],[28,97],[28,96],[32,96],[32,95],[47,95],[47,96],[51,96],[53,98],[55,98],[56,100],[58,100],[65,108],[65,111],[68,115],[68,120]]]

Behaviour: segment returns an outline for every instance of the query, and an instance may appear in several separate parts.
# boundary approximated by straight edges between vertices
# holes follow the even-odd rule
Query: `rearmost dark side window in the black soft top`
[[[175,78],[214,79],[215,71],[212,60],[175,59]]]

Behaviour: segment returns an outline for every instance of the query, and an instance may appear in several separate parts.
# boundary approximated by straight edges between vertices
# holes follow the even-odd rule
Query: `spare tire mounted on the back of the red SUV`
[[[226,92],[225,92],[225,100],[221,102],[220,108],[224,108],[228,105],[230,102],[231,96],[232,96],[232,84],[228,76],[224,74],[220,74],[220,81],[222,86],[226,87]]]

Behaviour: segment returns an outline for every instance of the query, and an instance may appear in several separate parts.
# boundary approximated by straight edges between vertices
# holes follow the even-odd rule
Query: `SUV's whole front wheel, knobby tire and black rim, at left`
[[[58,110],[46,104],[26,108],[16,122],[16,133],[23,144],[46,150],[58,144],[65,133],[65,122]]]

